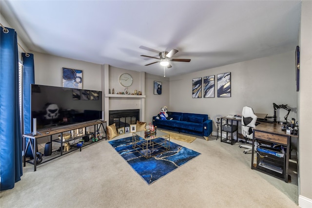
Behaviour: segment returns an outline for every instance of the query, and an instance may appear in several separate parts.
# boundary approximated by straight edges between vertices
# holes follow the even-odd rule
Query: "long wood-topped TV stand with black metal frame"
[[[75,138],[70,137],[69,139],[66,139],[65,141],[63,141],[63,132],[69,132],[69,131],[81,129],[81,128],[85,129],[86,127],[89,127],[89,126],[94,126],[94,132],[86,133],[84,135],[79,135]],[[57,127],[57,128],[53,128],[53,129],[49,129],[49,130],[42,130],[42,131],[37,132],[36,135],[33,135],[32,133],[23,134],[22,136],[23,136],[23,144],[24,144],[24,149],[23,149],[24,167],[26,166],[26,162],[27,162],[27,163],[34,165],[34,171],[37,170],[37,165],[39,165],[39,164],[37,164],[37,159],[38,159],[38,157],[37,157],[37,143],[38,143],[38,141],[37,140],[39,138],[50,136],[51,148],[52,148],[52,142],[60,143],[60,149],[59,150],[53,151],[51,155],[42,156],[42,162],[40,163],[40,164],[42,164],[42,163],[48,162],[50,160],[53,160],[57,157],[60,157],[64,154],[67,154],[69,152],[76,151],[76,150],[81,151],[81,148],[86,147],[86,146],[91,145],[91,144],[94,144],[94,143],[97,143],[97,142],[92,142],[92,140],[91,140],[89,142],[85,142],[81,147],[77,147],[77,145],[71,145],[71,149],[69,151],[65,151],[65,152],[63,151],[63,144],[64,143],[74,141],[74,140],[82,138],[84,136],[89,137],[90,134],[96,134],[96,132],[101,128],[101,126],[103,127],[104,133],[105,133],[105,134],[103,134],[103,136],[100,139],[98,139],[98,141],[101,141],[104,138],[105,138],[105,140],[107,139],[106,121],[101,121],[101,120],[82,122],[82,123],[63,126],[63,127]],[[52,139],[52,135],[55,135],[55,134],[60,134],[60,138],[59,139]],[[30,147],[30,149],[32,151],[33,159],[29,159],[26,161],[26,150],[28,147]]]

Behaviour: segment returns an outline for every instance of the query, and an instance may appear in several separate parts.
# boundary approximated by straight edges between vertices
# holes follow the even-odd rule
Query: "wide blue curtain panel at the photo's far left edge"
[[[1,190],[13,189],[22,175],[18,41],[15,30],[6,30],[0,27]]]

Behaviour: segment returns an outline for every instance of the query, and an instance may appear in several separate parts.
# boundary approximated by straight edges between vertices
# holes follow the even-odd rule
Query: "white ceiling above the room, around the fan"
[[[1,0],[1,14],[36,52],[166,76],[295,50],[301,0]],[[87,69],[82,69],[87,70]]]

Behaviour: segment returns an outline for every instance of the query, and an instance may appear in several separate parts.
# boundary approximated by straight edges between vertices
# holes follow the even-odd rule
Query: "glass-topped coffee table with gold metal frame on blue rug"
[[[144,131],[133,132],[132,147],[145,158],[150,158],[170,150],[170,134],[158,131],[145,137]]]

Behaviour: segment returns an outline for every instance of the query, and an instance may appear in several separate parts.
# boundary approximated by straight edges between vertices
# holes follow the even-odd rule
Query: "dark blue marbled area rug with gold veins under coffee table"
[[[199,152],[170,142],[170,150],[146,159],[132,147],[132,137],[109,141],[113,148],[148,184],[152,184],[178,167],[184,165]]]

